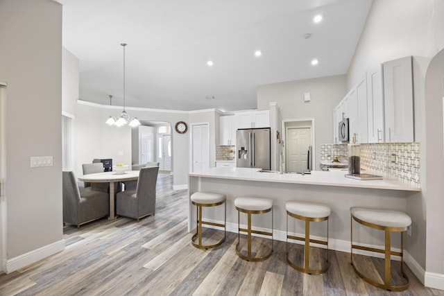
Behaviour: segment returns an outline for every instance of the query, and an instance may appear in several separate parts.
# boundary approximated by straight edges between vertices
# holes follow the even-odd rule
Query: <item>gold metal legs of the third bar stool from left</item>
[[[296,218],[298,220],[303,220],[305,221],[305,237],[302,236],[292,236],[289,235],[289,216]],[[310,238],[310,222],[320,222],[320,221],[325,221],[327,220],[327,241],[321,241],[321,240],[316,240],[316,239],[311,239]],[[304,265],[303,266],[299,266],[296,263],[294,263],[293,261],[291,261],[290,256],[289,256],[289,238],[296,240],[296,241],[304,241],[305,245],[304,245]],[[325,265],[323,268],[321,269],[310,269],[310,243],[318,243],[321,245],[326,245],[327,249],[326,249],[326,255],[325,255]],[[300,271],[300,272],[305,272],[308,273],[309,275],[321,275],[324,272],[326,272],[328,270],[328,268],[330,268],[330,261],[328,261],[328,216],[327,217],[323,217],[323,218],[309,218],[309,217],[304,217],[304,216],[299,216],[293,213],[290,213],[289,211],[287,211],[287,262],[289,263],[289,265]]]

